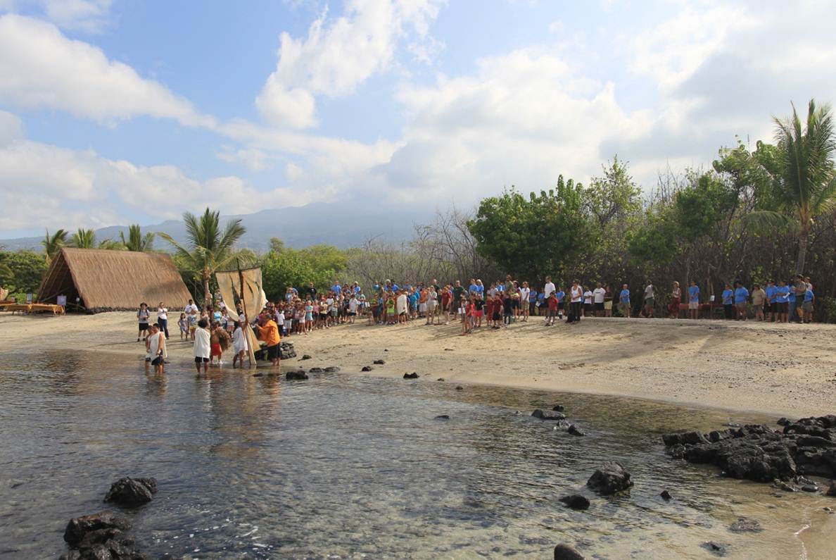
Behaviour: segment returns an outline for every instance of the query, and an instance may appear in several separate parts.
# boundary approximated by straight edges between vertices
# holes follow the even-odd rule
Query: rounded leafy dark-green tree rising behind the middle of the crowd
[[[532,281],[560,275],[566,263],[578,261],[592,237],[583,195],[583,185],[563,176],[556,188],[528,198],[512,188],[484,198],[467,229],[479,253],[513,275]]]

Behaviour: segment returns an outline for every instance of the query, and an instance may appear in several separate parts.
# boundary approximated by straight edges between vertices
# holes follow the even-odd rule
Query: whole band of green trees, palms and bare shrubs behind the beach
[[[489,283],[505,273],[535,287],[545,275],[634,288],[650,280],[663,293],[674,280],[696,280],[710,295],[726,282],[751,287],[802,272],[812,278],[818,319],[836,321],[832,114],[811,101],[806,118],[793,107],[793,115],[775,125],[774,144],[721,148],[710,169],[669,170],[655,188],[640,188],[628,163],[615,157],[588,185],[558,177],[548,191],[511,188],[483,199],[473,213],[438,213],[432,223],[416,225],[414,239],[403,244],[370,239],[357,249],[290,249],[272,239],[266,254],[254,254],[234,249],[240,223],[222,229],[218,213],[207,208],[185,216],[189,243],[174,244],[174,259],[196,300],[212,291],[215,270],[237,263],[262,266],[271,299],[311,280],[320,289],[333,280],[370,285],[385,278],[480,277]],[[121,243],[97,243],[83,229],[47,233],[46,258],[0,251],[0,282],[17,293],[37,290],[48,259],[64,245],[151,250],[152,243],[153,234],[142,235],[139,226]]]

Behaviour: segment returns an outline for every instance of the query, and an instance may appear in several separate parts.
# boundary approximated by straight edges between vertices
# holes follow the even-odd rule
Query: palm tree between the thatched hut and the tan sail
[[[189,238],[188,248],[178,244],[171,235],[160,233],[162,239],[174,245],[188,270],[200,275],[206,302],[212,299],[209,280],[217,270],[222,270],[237,257],[235,243],[247,231],[240,219],[227,222],[227,227],[221,231],[220,218],[221,213],[212,212],[209,208],[200,217],[191,212],[183,213]]]

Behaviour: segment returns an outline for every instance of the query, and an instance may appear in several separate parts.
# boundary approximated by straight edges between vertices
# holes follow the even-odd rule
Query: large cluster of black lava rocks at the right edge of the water
[[[709,434],[665,434],[662,439],[672,457],[716,465],[733,478],[771,482],[797,480],[798,475],[836,477],[836,415],[782,425],[781,431],[746,425]]]

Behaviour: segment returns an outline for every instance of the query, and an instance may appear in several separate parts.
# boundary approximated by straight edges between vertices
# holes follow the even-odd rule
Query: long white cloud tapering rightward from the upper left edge
[[[160,83],[33,18],[0,17],[0,76],[0,101],[24,109],[65,110],[102,123],[147,115],[215,125]]]

